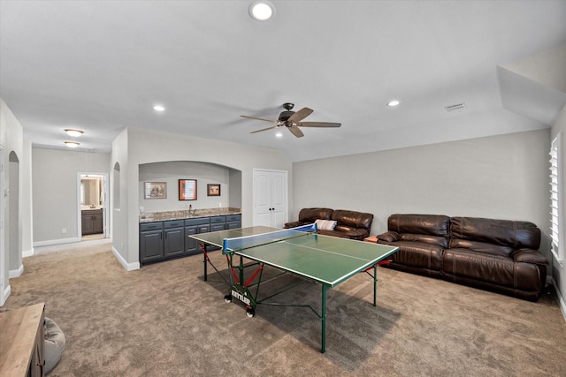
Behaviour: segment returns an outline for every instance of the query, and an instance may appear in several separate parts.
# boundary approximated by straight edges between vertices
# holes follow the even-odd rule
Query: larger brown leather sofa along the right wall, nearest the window
[[[391,215],[378,243],[394,245],[387,268],[440,277],[516,298],[539,299],[547,259],[532,222],[446,215]]]

